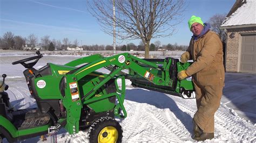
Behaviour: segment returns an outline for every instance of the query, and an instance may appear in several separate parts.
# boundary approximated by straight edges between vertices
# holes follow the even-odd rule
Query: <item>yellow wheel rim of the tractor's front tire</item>
[[[99,132],[98,142],[117,142],[118,132],[113,126],[107,126]]]

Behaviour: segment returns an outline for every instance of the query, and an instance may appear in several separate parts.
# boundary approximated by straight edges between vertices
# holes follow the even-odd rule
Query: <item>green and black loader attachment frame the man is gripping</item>
[[[154,69],[150,66],[147,67],[146,65],[138,63],[159,77],[167,77],[165,79],[166,82],[164,85],[157,85],[131,71],[129,74],[126,74],[126,78],[131,80],[133,87],[163,92],[165,94],[179,96],[184,99],[195,98],[191,77],[188,77],[182,81],[179,81],[177,78],[178,72],[186,69],[191,63],[183,64],[180,63],[178,59],[174,58],[143,60],[157,64],[159,68]]]

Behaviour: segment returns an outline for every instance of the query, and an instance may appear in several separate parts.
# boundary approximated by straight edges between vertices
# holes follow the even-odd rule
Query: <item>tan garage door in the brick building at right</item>
[[[240,71],[256,73],[256,34],[242,35]]]

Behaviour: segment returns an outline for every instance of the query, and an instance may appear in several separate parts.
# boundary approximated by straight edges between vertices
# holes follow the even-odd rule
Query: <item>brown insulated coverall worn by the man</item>
[[[225,71],[223,45],[218,35],[208,31],[198,40],[191,38],[186,54],[194,62],[186,74],[192,75],[196,89],[197,112],[194,121],[205,133],[214,132],[214,113],[223,94]]]

